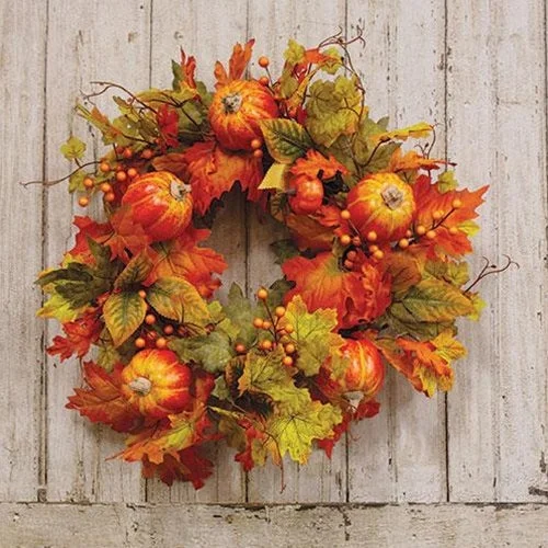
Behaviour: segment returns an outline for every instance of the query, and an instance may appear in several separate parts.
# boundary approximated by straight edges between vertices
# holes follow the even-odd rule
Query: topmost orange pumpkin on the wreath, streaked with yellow
[[[217,140],[229,150],[252,150],[261,139],[261,119],[278,116],[267,88],[254,80],[233,80],[217,90],[209,107],[209,123]]]

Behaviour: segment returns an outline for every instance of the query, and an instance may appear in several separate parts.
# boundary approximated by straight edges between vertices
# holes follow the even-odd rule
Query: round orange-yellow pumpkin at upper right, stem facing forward
[[[413,220],[411,186],[396,173],[376,173],[359,181],[347,196],[346,209],[363,237],[374,231],[380,241],[403,238]]]

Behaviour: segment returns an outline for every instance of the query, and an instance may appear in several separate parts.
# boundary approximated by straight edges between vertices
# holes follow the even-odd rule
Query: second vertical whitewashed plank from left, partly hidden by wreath
[[[48,2],[47,44],[47,112],[46,156],[47,176],[57,179],[71,168],[59,155],[59,146],[70,133],[88,136],[88,153],[98,159],[103,145],[96,133],[76,119],[72,107],[81,92],[91,90],[91,81],[111,80],[129,89],[145,89],[149,84],[149,2],[127,10],[107,0],[78,0],[70,12],[66,3]],[[116,55],[113,53],[116,52]],[[113,115],[110,98],[104,94],[96,104]],[[91,212],[98,215],[99,203]],[[77,196],[68,196],[65,185],[48,191],[45,219],[45,262],[57,264],[71,247],[71,217],[89,212],[76,205]],[[57,328],[50,322],[47,340]],[[77,361],[59,364],[48,358],[47,373],[47,498],[54,501],[122,501],[140,500],[144,481],[139,467],[119,460],[105,460],[123,447],[119,435],[110,429],[92,426],[89,421],[65,403],[72,388],[81,384]]]

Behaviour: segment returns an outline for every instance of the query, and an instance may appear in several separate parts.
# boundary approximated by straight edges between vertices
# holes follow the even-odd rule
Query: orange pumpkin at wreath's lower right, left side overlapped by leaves
[[[363,392],[366,400],[373,398],[385,380],[385,366],[376,346],[366,339],[349,339],[342,353],[349,358],[344,377],[340,380],[343,390]]]

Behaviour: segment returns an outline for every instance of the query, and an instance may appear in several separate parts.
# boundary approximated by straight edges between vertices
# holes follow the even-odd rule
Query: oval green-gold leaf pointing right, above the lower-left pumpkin
[[[149,287],[147,300],[160,315],[179,323],[204,327],[210,321],[209,310],[197,289],[180,277],[163,277]]]

